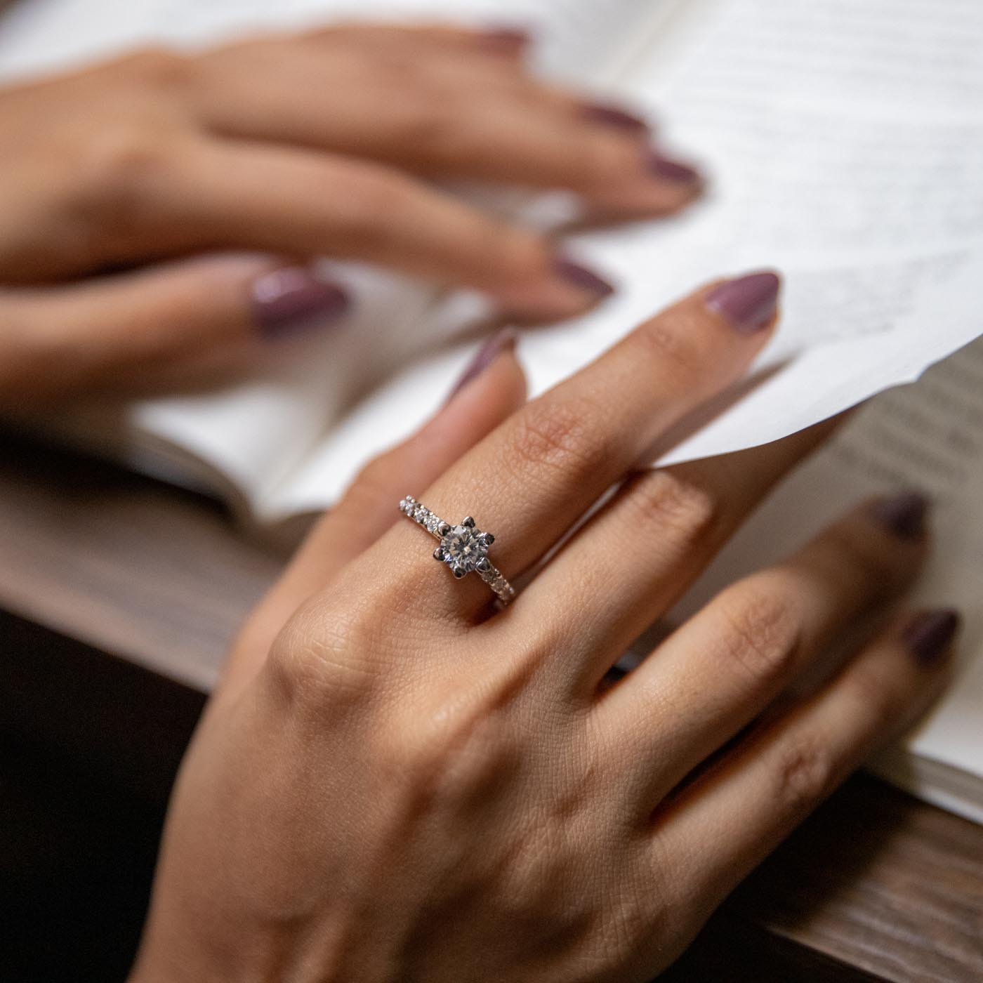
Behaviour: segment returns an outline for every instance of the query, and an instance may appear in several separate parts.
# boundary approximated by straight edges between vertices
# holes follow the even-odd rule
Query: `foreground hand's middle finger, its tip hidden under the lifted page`
[[[625,482],[524,593],[518,631],[549,610],[571,687],[590,698],[628,646],[683,595],[752,509],[837,427]]]

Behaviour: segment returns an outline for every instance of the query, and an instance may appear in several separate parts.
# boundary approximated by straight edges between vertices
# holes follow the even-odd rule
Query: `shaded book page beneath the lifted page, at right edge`
[[[676,617],[781,559],[858,500],[898,489],[933,501],[932,556],[908,604],[965,616],[954,685],[907,746],[983,779],[983,339],[866,406],[752,517]],[[972,818],[983,822],[983,813]]]

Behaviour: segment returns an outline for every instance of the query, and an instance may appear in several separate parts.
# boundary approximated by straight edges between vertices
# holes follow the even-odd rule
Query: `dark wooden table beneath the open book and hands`
[[[213,503],[0,437],[4,732],[159,807],[281,565]],[[983,829],[855,778],[665,978],[979,983]]]

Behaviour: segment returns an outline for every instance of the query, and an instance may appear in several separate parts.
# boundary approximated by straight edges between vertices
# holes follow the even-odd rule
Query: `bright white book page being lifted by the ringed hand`
[[[786,274],[762,357],[783,369],[665,461],[793,433],[983,332],[983,4],[704,0],[662,41],[622,87],[700,158],[709,194],[670,221],[576,237],[571,249],[619,290],[584,318],[526,332],[534,394],[702,280],[763,265]],[[407,369],[272,510],[329,502],[435,408],[466,359]]]

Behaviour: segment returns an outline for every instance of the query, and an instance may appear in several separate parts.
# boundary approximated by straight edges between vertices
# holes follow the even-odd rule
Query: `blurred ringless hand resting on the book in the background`
[[[546,237],[430,182],[564,188],[625,217],[681,207],[699,179],[641,120],[534,81],[522,50],[339,27],[0,92],[0,403],[152,384],[337,316],[313,257],[486,291],[516,318],[596,302],[607,283]]]

